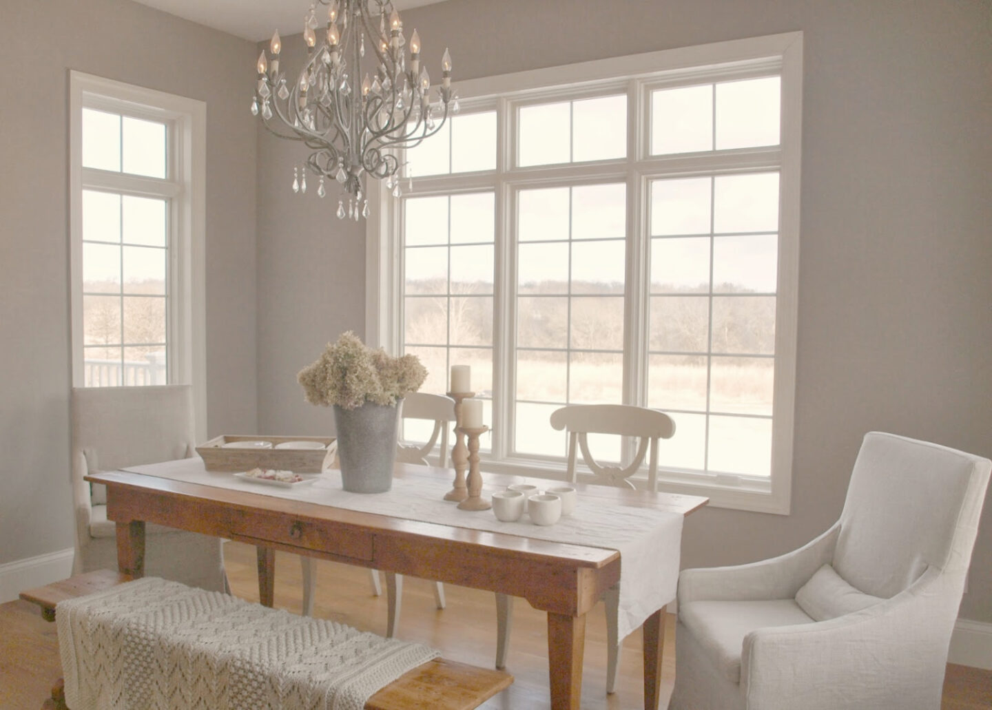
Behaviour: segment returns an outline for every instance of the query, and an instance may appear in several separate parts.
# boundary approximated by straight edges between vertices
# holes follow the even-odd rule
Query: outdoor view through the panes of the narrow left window
[[[165,180],[167,135],[164,123],[82,109],[85,387],[167,382],[170,200],[154,180],[138,193],[120,179]]]

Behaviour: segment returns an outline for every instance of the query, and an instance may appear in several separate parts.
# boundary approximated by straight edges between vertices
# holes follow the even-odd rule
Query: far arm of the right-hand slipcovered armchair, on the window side
[[[840,524],[792,552],[751,564],[684,569],[679,603],[699,600],[792,599],[817,569],[833,559]]]

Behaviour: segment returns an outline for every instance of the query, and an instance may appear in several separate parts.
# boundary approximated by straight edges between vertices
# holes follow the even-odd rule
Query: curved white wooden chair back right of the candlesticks
[[[648,487],[652,491],[658,490],[658,440],[671,438],[676,431],[676,422],[668,414],[630,405],[570,405],[552,413],[551,421],[556,429],[568,432],[569,481],[575,481],[576,449],[580,449],[585,465],[602,483],[634,488],[630,477],[644,463],[650,444]],[[587,437],[590,433],[639,437],[634,460],[626,467],[597,463],[589,453]]]

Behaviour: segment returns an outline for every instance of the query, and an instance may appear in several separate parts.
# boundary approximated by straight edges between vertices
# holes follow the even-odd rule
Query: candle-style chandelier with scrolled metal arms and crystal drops
[[[326,6],[326,27],[317,8]],[[322,10],[321,10],[321,14]],[[320,30],[319,34],[317,30]],[[451,57],[441,59],[441,83],[431,99],[431,76],[421,66],[421,38],[409,42],[392,0],[317,0],[304,25],[307,59],[296,78],[280,70],[282,41],[272,36],[269,56],[258,58],[258,85],[251,112],[261,114],[271,133],[302,141],[312,152],[293,169],[293,190],[307,191],[307,171],[340,185],[337,217],[369,216],[365,178],[384,179],[400,196],[404,164],[399,149],[413,148],[433,136],[456,113],[451,89]],[[364,59],[370,53],[368,59]],[[359,81],[362,64],[364,77]],[[371,70],[371,78],[370,78]],[[347,199],[347,209],[344,200]]]

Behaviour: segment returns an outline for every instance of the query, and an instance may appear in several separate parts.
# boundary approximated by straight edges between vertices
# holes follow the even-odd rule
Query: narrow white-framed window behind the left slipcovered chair
[[[72,72],[70,114],[73,384],[195,385],[203,104]]]

